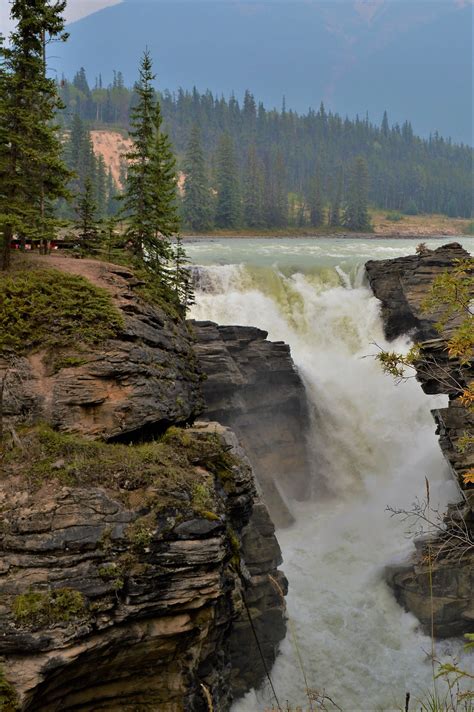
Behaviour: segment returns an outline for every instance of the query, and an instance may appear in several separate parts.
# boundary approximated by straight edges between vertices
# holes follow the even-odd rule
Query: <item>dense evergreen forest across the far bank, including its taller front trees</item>
[[[136,87],[120,72],[103,86],[89,84],[83,68],[59,82],[69,133],[68,166],[78,171],[82,133],[100,214],[117,210],[117,186],[91,154],[88,131],[130,129]],[[409,121],[391,125],[351,120],[323,104],[305,115],[268,110],[247,91],[243,100],[178,90],[157,92],[163,125],[184,174],[180,211],[197,232],[223,229],[339,226],[370,229],[367,207],[410,215],[472,216],[472,148],[438,134],[423,139]],[[90,156],[87,158],[87,156]],[[124,159],[124,177],[126,171]],[[79,181],[83,182],[84,178]],[[122,182],[123,182],[122,181]],[[362,203],[361,203],[362,201]]]

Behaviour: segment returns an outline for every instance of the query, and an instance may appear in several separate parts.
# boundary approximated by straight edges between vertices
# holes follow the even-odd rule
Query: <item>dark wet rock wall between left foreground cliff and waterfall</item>
[[[252,463],[272,520],[292,522],[286,498],[304,499],[310,482],[304,385],[289,346],[245,326],[191,322],[206,375],[205,417],[234,430]]]

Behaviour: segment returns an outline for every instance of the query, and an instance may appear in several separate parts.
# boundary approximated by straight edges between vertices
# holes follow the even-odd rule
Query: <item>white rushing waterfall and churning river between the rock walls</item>
[[[474,240],[462,242],[469,249]],[[395,385],[371,358],[374,342],[387,343],[379,302],[363,282],[367,259],[408,254],[415,244],[238,239],[187,248],[202,266],[192,316],[267,330],[290,344],[304,379],[314,414],[315,494],[290,503],[296,524],[278,539],[309,687],[346,712],[400,709],[406,691],[416,697],[433,684],[430,640],[397,605],[383,571],[413,547],[386,506],[422,498],[425,476],[433,499],[456,498],[430,415],[445,401],[425,396],[415,381]],[[402,338],[390,348],[408,345]],[[447,641],[437,653],[460,649]],[[272,679],[280,704],[308,708],[291,636]],[[272,701],[264,686],[233,710],[263,711]]]

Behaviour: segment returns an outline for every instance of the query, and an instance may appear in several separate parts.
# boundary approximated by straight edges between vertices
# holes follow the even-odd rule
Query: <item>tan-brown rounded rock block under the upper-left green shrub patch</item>
[[[5,415],[29,415],[105,439],[133,439],[137,432],[160,433],[171,423],[194,420],[203,407],[200,372],[184,322],[139,298],[140,282],[125,267],[64,258],[52,266],[60,262],[79,274],[87,262],[88,278],[110,292],[124,329],[87,352],[68,349],[67,367],[51,354],[15,359]]]

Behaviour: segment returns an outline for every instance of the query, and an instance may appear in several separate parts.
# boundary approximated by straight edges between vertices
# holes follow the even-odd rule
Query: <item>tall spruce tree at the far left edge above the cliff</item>
[[[0,229],[2,267],[10,264],[14,234],[54,237],[52,200],[67,196],[68,170],[54,117],[62,104],[46,75],[46,44],[65,40],[65,0],[14,0],[16,29],[1,47]]]

